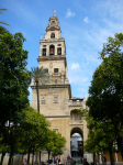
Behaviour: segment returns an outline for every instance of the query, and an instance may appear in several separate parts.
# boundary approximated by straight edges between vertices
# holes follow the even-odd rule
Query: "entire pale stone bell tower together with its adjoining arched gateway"
[[[54,34],[54,36],[53,36]],[[62,133],[66,139],[64,155],[71,154],[71,135],[77,132],[87,140],[87,122],[77,113],[79,108],[86,108],[85,98],[71,98],[71,88],[67,75],[66,44],[62,36],[58,18],[49,18],[44,38],[40,41],[38,67],[48,68],[51,81],[38,84],[40,112],[51,122],[51,129]],[[32,85],[32,107],[37,109],[35,84]],[[81,131],[80,131],[81,130]],[[83,151],[83,148],[82,148]],[[83,155],[86,154],[82,153]],[[88,156],[88,154],[87,154]],[[47,155],[43,154],[43,160]]]

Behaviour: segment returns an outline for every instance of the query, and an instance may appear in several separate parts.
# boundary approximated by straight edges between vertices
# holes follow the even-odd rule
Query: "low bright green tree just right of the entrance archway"
[[[115,142],[115,130],[114,125],[109,121],[97,121],[91,116],[89,116],[89,110],[78,110],[78,113],[85,116],[87,121],[87,127],[89,129],[88,140],[86,141],[85,150],[90,153],[110,153],[111,165],[114,164],[113,143]],[[94,162],[94,157],[93,157]],[[96,162],[94,162],[96,163]]]

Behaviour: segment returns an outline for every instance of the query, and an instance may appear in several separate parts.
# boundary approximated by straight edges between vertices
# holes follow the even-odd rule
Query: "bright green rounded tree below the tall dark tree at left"
[[[49,123],[43,114],[36,112],[30,106],[26,106],[20,113],[20,122],[18,125],[8,125],[8,136],[1,136],[0,151],[3,154],[7,152],[10,153],[9,164],[12,162],[13,154],[27,154],[29,163],[30,153],[33,153],[33,148],[45,148],[48,125]],[[35,146],[33,145],[34,142]]]

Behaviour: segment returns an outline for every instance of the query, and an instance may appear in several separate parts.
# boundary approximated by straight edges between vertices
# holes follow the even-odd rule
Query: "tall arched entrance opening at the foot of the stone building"
[[[74,128],[70,132],[71,157],[83,157],[83,133],[80,128]]]

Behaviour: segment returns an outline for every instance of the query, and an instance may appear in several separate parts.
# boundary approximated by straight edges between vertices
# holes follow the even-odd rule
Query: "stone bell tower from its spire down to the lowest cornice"
[[[40,40],[38,67],[48,69],[51,80],[42,79],[38,84],[40,112],[46,118],[68,114],[68,100],[71,90],[67,75],[66,45],[58,18],[49,18],[44,38]],[[43,85],[44,84],[44,85]],[[35,86],[35,82],[33,82]],[[36,107],[36,90],[32,86],[32,107]]]

